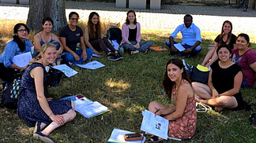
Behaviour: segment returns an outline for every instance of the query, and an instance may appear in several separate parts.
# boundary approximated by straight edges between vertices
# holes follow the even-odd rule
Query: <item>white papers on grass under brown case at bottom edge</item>
[[[121,130],[118,128],[114,128],[114,130],[111,133],[111,137],[108,139],[107,142],[116,142],[116,143],[144,143],[145,137],[143,136],[142,141],[125,141],[123,135],[124,134],[133,134],[134,132],[127,131],[127,130]]]

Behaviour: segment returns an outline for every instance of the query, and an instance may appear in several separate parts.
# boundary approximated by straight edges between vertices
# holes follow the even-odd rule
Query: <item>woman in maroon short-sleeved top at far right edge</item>
[[[254,86],[256,73],[256,52],[250,48],[250,38],[247,34],[241,33],[236,38],[236,48],[232,50],[232,61],[239,64],[243,72],[241,87]]]

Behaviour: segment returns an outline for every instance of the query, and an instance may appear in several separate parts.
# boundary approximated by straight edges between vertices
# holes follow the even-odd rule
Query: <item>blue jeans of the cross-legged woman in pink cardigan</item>
[[[152,46],[152,41],[144,41],[140,43],[140,48],[136,49],[134,45],[136,45],[136,41],[131,41],[133,45],[127,44],[126,42],[122,44],[123,49],[126,49],[127,51],[135,51],[138,50],[140,53],[145,52],[146,49],[149,49],[150,46]]]

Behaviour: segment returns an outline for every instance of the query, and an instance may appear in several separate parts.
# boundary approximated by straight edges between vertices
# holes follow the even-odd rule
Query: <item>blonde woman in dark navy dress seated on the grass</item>
[[[40,54],[32,60],[21,79],[17,113],[28,127],[35,127],[33,137],[43,142],[55,142],[49,137],[52,130],[70,122],[76,116],[73,101],[47,101],[44,86],[47,81],[45,66],[55,62],[55,44],[45,43]]]

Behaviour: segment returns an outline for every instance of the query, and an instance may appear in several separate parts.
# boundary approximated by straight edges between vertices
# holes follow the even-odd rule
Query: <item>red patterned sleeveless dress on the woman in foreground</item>
[[[186,80],[181,84],[190,84]],[[179,87],[178,87],[179,88]],[[176,87],[172,89],[171,103],[176,108],[177,91]],[[186,108],[183,116],[179,119],[169,121],[168,136],[171,138],[189,139],[194,136],[197,123],[196,101],[194,96],[187,98]]]

